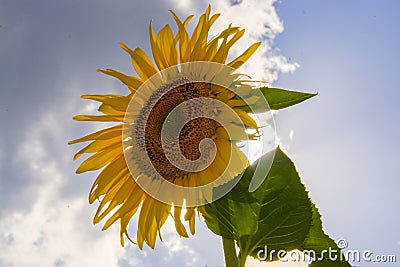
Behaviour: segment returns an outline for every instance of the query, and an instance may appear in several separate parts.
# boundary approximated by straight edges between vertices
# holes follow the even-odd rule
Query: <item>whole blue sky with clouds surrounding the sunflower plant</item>
[[[149,51],[150,19],[159,29],[173,23],[168,9],[198,16],[207,4],[0,0],[0,266],[223,266],[200,219],[189,239],[169,225],[155,251],[120,248],[117,227],[92,226],[94,174],[75,175],[77,147],[66,145],[102,127],[71,120],[96,109],[79,95],[126,92],[95,72],[131,72],[118,42]],[[211,4],[221,27],[233,21],[247,42],[265,40],[247,73],[319,93],[275,118],[327,232],[400,259],[398,1]]]

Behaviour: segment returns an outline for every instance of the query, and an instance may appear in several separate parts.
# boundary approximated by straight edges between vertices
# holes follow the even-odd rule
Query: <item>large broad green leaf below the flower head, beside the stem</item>
[[[272,158],[268,175],[255,191],[249,192],[257,165],[263,166]],[[265,248],[269,252],[314,249],[320,255],[323,249],[336,246],[324,234],[318,210],[294,163],[279,147],[249,166],[231,192],[201,211],[212,232],[236,241],[242,261],[249,255],[265,255]],[[277,256],[268,255],[266,260],[277,260]],[[332,262],[313,266],[329,266],[325,263]],[[338,266],[349,265],[343,262]]]

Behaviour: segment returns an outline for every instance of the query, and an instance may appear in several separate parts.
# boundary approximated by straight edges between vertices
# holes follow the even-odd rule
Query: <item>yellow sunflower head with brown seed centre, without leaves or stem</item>
[[[116,123],[69,144],[90,142],[74,156],[91,154],[76,172],[101,170],[89,194],[90,203],[100,200],[93,223],[107,217],[105,230],[119,220],[122,246],[125,236],[134,242],[127,229],[136,213],[134,243],[140,248],[144,242],[154,248],[169,216],[180,236],[188,237],[181,217],[194,234],[196,208],[218,198],[212,189],[248,166],[240,141],[256,138],[258,126],[240,108],[248,104],[252,87],[235,70],[260,43],[226,64],[229,49],[244,30],[229,25],[210,38],[210,27],[219,17],[210,11],[209,6],[191,35],[186,28],[193,16],[182,22],[171,11],[176,34],[168,24],[156,34],[150,23],[155,64],[142,49],[120,43],[137,76],[98,71],[118,78],[128,87],[127,95],[81,96],[100,102],[103,114],[75,120]]]

